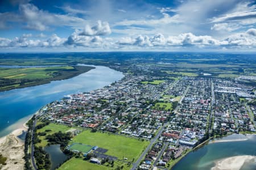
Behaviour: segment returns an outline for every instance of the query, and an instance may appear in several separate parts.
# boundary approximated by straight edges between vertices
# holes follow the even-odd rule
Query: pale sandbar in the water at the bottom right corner
[[[239,170],[247,160],[251,159],[255,159],[255,156],[242,155],[221,159],[216,161],[216,165],[211,170]]]

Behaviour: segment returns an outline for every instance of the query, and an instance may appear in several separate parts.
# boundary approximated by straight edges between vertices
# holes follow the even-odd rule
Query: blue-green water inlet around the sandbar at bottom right
[[[207,170],[213,168],[218,160],[241,155],[256,156],[256,135],[233,134],[210,141],[208,145],[190,152],[172,169]],[[245,162],[241,170],[256,169],[255,159]]]

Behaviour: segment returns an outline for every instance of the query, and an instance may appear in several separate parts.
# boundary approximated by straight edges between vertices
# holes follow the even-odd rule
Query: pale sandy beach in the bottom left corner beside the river
[[[0,169],[24,168],[24,141],[18,138],[23,131],[27,131],[26,123],[9,135],[0,138],[0,154],[7,158],[6,165],[0,164]]]

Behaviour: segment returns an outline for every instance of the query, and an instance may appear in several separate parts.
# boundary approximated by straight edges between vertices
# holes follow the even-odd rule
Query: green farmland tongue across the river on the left
[[[93,68],[89,66],[0,68],[0,91],[46,84],[52,80],[68,79]]]

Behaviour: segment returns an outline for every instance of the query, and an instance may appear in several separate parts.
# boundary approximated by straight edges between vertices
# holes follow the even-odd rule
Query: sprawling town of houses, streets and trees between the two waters
[[[89,145],[92,149],[86,151],[70,149],[85,157],[92,154],[90,163],[104,166],[106,159],[124,161],[131,169],[168,169],[209,139],[255,133],[256,107],[247,104],[255,98],[254,86],[207,74],[166,78],[150,74],[150,68],[143,67],[148,74],[137,75],[129,69],[123,68],[124,78],[109,86],[47,104],[40,109],[38,121],[77,128],[73,134],[77,137],[89,129],[148,141],[133,160],[94,151],[96,145]],[[135,67],[139,69],[141,66]],[[88,143],[77,145],[88,147]]]

